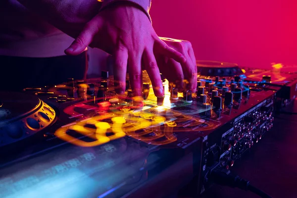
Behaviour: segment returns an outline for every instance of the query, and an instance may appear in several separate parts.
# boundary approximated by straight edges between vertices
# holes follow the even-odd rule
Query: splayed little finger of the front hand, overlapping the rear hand
[[[155,42],[157,45],[157,49],[163,55],[165,55],[169,58],[173,58],[174,60],[176,60],[177,62],[180,62],[180,63],[186,61],[186,57],[182,53],[178,52],[177,50],[175,50],[173,48],[170,48],[165,42],[160,40],[158,37]]]

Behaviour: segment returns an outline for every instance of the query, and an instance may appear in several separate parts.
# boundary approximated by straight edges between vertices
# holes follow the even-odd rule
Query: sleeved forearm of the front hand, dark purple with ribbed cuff
[[[128,1],[140,5],[149,17],[150,0],[18,0],[29,10],[39,14],[51,25],[76,38],[83,27],[100,8],[117,1]],[[149,17],[150,19],[150,17]]]

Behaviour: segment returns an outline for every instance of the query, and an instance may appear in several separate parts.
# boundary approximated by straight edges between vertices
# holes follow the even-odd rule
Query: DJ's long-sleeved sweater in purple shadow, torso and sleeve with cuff
[[[73,38],[84,24],[100,8],[120,0],[99,1],[101,0],[0,0],[0,55],[65,55],[64,49],[74,41]],[[149,17],[151,0],[126,1],[143,7]]]

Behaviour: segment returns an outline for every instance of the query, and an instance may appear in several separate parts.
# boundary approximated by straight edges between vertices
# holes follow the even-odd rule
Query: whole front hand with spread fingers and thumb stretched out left
[[[148,16],[127,2],[114,3],[99,12],[87,23],[65,53],[77,55],[89,45],[113,55],[114,79],[117,82],[115,87],[118,94],[125,91],[127,63],[130,84],[135,96],[142,96],[142,65],[148,72],[154,94],[164,96],[154,52],[177,62],[186,61],[182,53],[168,47],[157,37]]]

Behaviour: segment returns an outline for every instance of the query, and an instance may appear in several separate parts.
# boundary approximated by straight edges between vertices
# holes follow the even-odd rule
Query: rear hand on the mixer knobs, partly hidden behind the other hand
[[[154,54],[159,66],[160,72],[169,82],[173,82],[178,91],[184,89],[191,90],[193,93],[197,89],[197,66],[194,50],[189,41],[159,37],[170,48],[177,50],[186,57],[185,62],[177,62],[172,58],[164,57],[154,50]],[[184,87],[184,81],[187,81],[187,87]]]

